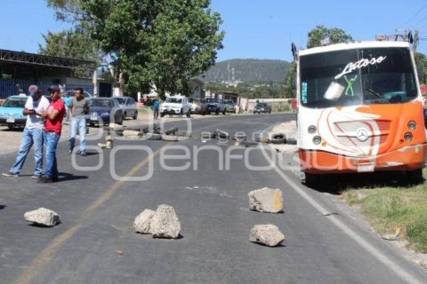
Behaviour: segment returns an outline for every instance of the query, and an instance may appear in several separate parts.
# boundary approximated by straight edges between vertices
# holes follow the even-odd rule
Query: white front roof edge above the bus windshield
[[[409,48],[409,43],[407,42],[392,42],[392,41],[366,41],[358,43],[339,43],[328,46],[314,47],[309,49],[304,49],[298,51],[298,56],[315,54],[315,53],[324,53],[330,51],[346,50],[346,49],[355,49],[355,48],[378,48],[378,47],[404,47]]]

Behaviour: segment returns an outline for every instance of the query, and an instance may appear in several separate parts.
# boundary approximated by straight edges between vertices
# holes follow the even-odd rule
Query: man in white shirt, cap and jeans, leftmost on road
[[[3,173],[4,177],[18,177],[24,166],[25,159],[34,144],[35,170],[32,178],[40,179],[43,170],[43,128],[44,119],[36,113],[41,113],[49,106],[49,100],[42,96],[39,87],[31,85],[29,87],[31,94],[24,106],[23,114],[27,115],[27,123],[21,139],[21,147],[18,151],[18,157],[15,164],[9,170],[9,173]]]

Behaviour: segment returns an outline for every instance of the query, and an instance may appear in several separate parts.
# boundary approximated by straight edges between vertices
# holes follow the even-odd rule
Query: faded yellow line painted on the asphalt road
[[[141,162],[139,162],[135,167],[133,167],[128,173],[126,173],[126,177],[132,177],[138,170],[144,167],[150,160],[152,160],[155,156],[157,156],[163,147],[157,149],[152,155],[145,158]],[[62,243],[71,238],[82,226],[82,221],[90,217],[95,210],[101,206],[105,201],[109,200],[113,194],[125,183],[125,181],[117,181],[111,188],[105,191],[97,200],[95,200],[86,210],[84,210],[83,214],[77,220],[76,224],[71,228],[67,229],[65,232],[57,236],[47,248],[43,250],[41,255],[31,261],[29,266],[24,269],[21,273],[20,277],[15,280],[14,283],[23,284],[29,283],[31,279],[33,279],[39,273],[40,268],[48,262],[56,249],[60,247]]]

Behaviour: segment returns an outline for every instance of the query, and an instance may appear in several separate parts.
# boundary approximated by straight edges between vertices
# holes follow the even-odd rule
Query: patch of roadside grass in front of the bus
[[[427,169],[423,170],[427,180]],[[427,182],[415,186],[352,188],[343,192],[349,205],[359,206],[379,234],[394,233],[406,238],[415,251],[427,253]]]

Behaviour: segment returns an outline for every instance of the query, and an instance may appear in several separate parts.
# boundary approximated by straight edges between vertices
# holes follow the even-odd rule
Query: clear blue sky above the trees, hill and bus
[[[427,0],[288,1],[212,0],[226,31],[218,61],[232,58],[290,60],[290,44],[304,47],[316,25],[338,27],[357,40],[393,34],[397,28],[420,28],[427,37]],[[55,21],[44,0],[3,1],[0,10],[0,49],[37,52],[42,34],[68,24]],[[427,53],[427,41],[418,51]]]

